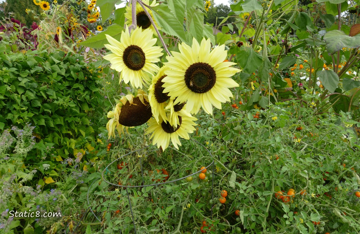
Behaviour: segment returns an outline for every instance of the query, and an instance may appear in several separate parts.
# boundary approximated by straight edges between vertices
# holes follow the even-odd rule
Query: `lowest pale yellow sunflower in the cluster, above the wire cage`
[[[163,150],[169,146],[170,140],[175,148],[179,149],[177,147],[177,145],[181,146],[179,136],[189,140],[189,133],[192,133],[196,130],[194,128],[196,123],[193,122],[197,120],[195,117],[179,115],[180,124],[176,128],[171,126],[169,122],[163,121],[161,116],[159,117],[159,120],[159,123],[155,119],[150,120],[146,133],[148,134],[152,132],[150,139],[153,138],[153,145],[157,144],[157,147],[160,148],[161,146]]]

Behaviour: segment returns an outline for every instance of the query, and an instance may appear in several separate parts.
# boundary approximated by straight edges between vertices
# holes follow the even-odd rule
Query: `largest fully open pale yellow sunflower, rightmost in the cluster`
[[[173,57],[166,57],[165,63],[170,70],[162,81],[163,92],[169,92],[174,104],[186,102],[186,110],[197,113],[202,106],[204,111],[212,114],[212,105],[221,109],[222,102],[230,102],[233,97],[229,88],[239,86],[229,78],[240,70],[233,62],[223,62],[227,51],[225,45],[217,46],[210,52],[210,39],[201,41],[193,39],[193,46],[185,43],[179,45],[179,52],[172,52]]]

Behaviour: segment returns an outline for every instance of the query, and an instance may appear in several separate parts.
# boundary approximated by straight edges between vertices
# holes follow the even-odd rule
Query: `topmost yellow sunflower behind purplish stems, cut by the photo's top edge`
[[[143,0],[143,3],[145,5],[149,5],[149,0]],[[159,4],[156,3],[156,0],[154,0],[152,2],[152,4],[150,6],[157,6]],[[161,29],[159,28],[156,20],[154,19],[153,17],[153,13],[152,13],[152,10],[150,10],[149,8],[147,8],[145,6],[146,10],[149,12],[151,18],[153,19],[156,27],[158,29]],[[124,14],[127,21],[125,22],[127,25],[131,25],[132,24],[132,14],[131,14],[131,5],[130,6],[126,6],[126,13]],[[154,26],[151,24],[151,21],[149,20],[149,17],[146,15],[144,9],[141,7],[141,5],[139,3],[136,2],[136,25],[138,27],[141,27],[143,30],[144,29],[147,29],[147,28],[150,28],[152,29],[153,33],[156,35],[156,31],[155,31],[155,28]]]

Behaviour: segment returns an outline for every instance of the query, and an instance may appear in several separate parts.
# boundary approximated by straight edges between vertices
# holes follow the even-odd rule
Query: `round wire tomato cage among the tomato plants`
[[[192,139],[193,140],[193,139]],[[110,181],[108,181],[105,177],[108,175],[107,172],[109,171],[108,168],[111,167],[111,165],[117,161],[119,161],[120,159],[128,156],[128,155],[131,155],[131,154],[134,154],[136,152],[139,152],[141,150],[145,150],[145,149],[148,149],[149,147],[151,147],[150,145],[149,146],[145,146],[141,149],[138,149],[138,150],[134,150],[134,151],[131,151],[130,153],[127,153],[125,155],[122,155],[120,156],[119,158],[113,160],[111,163],[109,163],[106,168],[103,170],[102,174],[101,174],[101,177],[102,177],[102,180],[106,183],[108,183],[109,185],[112,185],[112,186],[116,186],[116,187],[121,187],[121,188],[125,188],[126,190],[126,195],[127,195],[127,200],[129,202],[129,207],[130,207],[130,212],[131,212],[131,219],[132,219],[132,224],[134,225],[134,233],[136,234],[136,225],[135,225],[135,219],[134,219],[134,213],[133,213],[133,210],[132,210],[132,205],[131,205],[131,200],[130,200],[130,196],[129,196],[129,191],[128,189],[129,188],[144,188],[144,187],[150,187],[150,186],[162,186],[164,184],[170,184],[170,183],[175,183],[177,181],[181,181],[183,179],[186,179],[190,176],[193,176],[195,174],[198,174],[198,173],[201,173],[204,169],[208,169],[210,167],[212,167],[212,172],[211,172],[211,175],[212,175],[212,181],[211,181],[211,199],[213,199],[213,188],[214,188],[214,159],[213,159],[213,155],[211,154],[210,150],[208,150],[206,148],[206,146],[204,146],[203,144],[201,144],[200,142],[196,141],[196,140],[193,140],[195,143],[197,143],[198,145],[201,145],[206,151],[207,153],[210,155],[210,157],[212,158],[212,162],[210,164],[208,164],[205,168],[202,168],[202,169],[199,169],[197,172],[194,172],[192,174],[189,174],[187,176],[184,176],[184,177],[181,177],[181,178],[178,178],[178,179],[174,179],[172,181],[165,181],[165,182],[160,182],[160,183],[154,183],[154,184],[145,184],[144,182],[144,172],[143,172],[143,162],[141,160],[141,157],[139,157],[139,163],[140,163],[140,170],[141,170],[141,180],[142,180],[142,184],[141,185],[122,185],[122,184],[114,184],[114,183],[111,183]],[[151,151],[150,149],[147,150],[145,153]],[[125,165],[128,165],[126,162],[123,162],[124,163],[124,167]],[[92,185],[97,182],[99,180],[95,180],[93,183],[91,183],[91,185],[89,186],[89,189],[87,191],[87,205],[89,206],[88,209],[90,209],[90,211],[93,213],[93,215],[95,216],[95,218],[99,221],[99,222],[102,222],[99,217],[94,213],[93,209],[91,209],[91,205],[90,205],[90,202],[89,202],[89,192],[91,190],[91,187]],[[159,181],[159,180],[153,180],[153,181]],[[213,210],[213,206],[211,206],[211,209],[210,209],[210,212],[211,212],[211,217],[212,217],[212,210]],[[84,217],[85,215],[83,215]],[[121,231],[120,231],[121,233]]]

